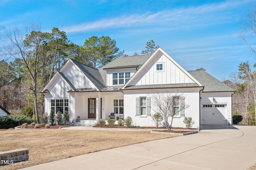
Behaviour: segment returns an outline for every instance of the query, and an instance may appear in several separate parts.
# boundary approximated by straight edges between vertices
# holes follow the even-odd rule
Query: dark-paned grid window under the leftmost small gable
[[[68,99],[51,99],[51,110],[54,110],[54,113],[60,111],[62,114],[68,111]]]

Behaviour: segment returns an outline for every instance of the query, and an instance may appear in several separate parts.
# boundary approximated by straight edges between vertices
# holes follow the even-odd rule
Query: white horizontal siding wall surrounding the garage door
[[[212,104],[212,105],[218,105],[218,104],[226,104],[226,115],[223,115],[227,119],[227,125],[232,125],[232,93],[230,92],[207,92],[202,93],[202,101],[201,105],[204,104]],[[215,102],[212,101],[212,99],[215,99]],[[202,106],[201,106],[202,107]],[[202,109],[201,109],[202,114]]]

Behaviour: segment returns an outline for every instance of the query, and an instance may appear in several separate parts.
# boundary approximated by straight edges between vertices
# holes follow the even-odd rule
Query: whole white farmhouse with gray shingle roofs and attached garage
[[[176,108],[186,108],[176,113],[172,127],[185,127],[184,117],[192,117],[194,128],[232,125],[234,90],[203,70],[186,71],[160,47],[100,69],[69,59],[41,93],[48,114],[68,111],[74,125],[92,126],[114,113],[115,119],[130,116],[134,125],[152,127],[152,96],[167,93],[178,101]]]

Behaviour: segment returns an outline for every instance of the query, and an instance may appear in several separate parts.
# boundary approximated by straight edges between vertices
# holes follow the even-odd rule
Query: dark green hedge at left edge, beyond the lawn
[[[33,121],[26,116],[0,116],[0,129],[14,128],[23,123],[31,124]]]

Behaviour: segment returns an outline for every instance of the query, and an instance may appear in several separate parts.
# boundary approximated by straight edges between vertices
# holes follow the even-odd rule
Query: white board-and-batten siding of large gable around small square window
[[[162,71],[156,71],[157,63],[163,63]],[[179,67],[180,65],[175,65],[167,56],[158,53],[151,61],[146,63],[136,79],[130,82],[130,85],[195,83]]]

